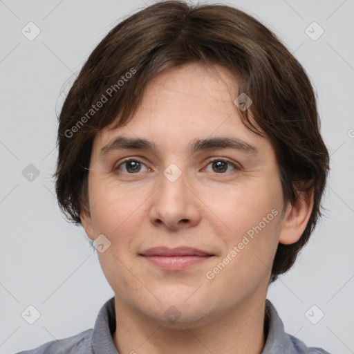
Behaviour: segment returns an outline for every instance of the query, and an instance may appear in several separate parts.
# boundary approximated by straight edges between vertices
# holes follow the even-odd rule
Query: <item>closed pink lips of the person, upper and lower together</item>
[[[214,254],[209,254],[203,250],[189,247],[149,248],[149,250],[139,255],[149,261],[149,263],[163,270],[183,270],[192,265],[207,261],[207,259],[214,256]]]

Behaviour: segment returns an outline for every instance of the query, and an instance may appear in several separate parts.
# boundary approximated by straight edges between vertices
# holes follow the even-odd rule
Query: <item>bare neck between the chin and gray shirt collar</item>
[[[264,315],[265,298],[249,298],[218,318],[213,314],[210,321],[171,328],[136,313],[115,296],[113,342],[120,354],[261,354],[267,335]]]

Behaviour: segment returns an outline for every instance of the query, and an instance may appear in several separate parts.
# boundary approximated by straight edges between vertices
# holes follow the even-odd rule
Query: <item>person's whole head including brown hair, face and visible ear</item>
[[[109,149],[118,137],[151,144]],[[321,216],[329,157],[308,75],[229,6],[165,1],[115,26],[66,97],[58,146],[59,206],[90,239],[109,239],[104,274],[141,308],[158,303],[131,297],[142,283],[177,303],[204,282],[195,304],[226,309],[289,270]],[[213,257],[164,272],[140,257],[159,245]]]

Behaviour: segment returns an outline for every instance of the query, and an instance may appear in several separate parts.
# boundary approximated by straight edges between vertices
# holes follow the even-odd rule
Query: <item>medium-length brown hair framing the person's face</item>
[[[59,206],[70,221],[81,224],[80,209],[88,205],[88,171],[83,167],[89,167],[95,133],[109,124],[112,128],[126,124],[153,77],[189,62],[227,68],[237,78],[239,95],[251,97],[252,106],[239,113],[250,129],[261,134],[248,116],[252,113],[272,142],[284,205],[295,202],[299,183],[313,190],[306,230],[292,245],[279,243],[272,282],[295,262],[322,215],[329,156],[304,68],[274,33],[236,8],[161,1],[124,19],[102,39],[59,115],[54,174]]]

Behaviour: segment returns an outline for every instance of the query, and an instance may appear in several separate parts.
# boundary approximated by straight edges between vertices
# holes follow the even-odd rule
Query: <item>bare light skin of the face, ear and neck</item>
[[[295,243],[304,232],[313,196],[284,205],[274,149],[268,138],[241,122],[237,92],[221,66],[172,68],[149,83],[127,124],[95,136],[89,205],[81,218],[90,239],[104,234],[111,242],[97,254],[115,293],[113,341],[121,354],[256,354],[265,345],[265,297],[274,254],[279,242]],[[118,136],[145,138],[156,151],[114,151],[100,158],[102,147]],[[187,150],[195,138],[216,137],[239,138],[259,152]],[[131,163],[120,165],[123,158],[141,162],[140,171]],[[239,168],[227,163],[219,171],[212,158]],[[174,182],[163,174],[171,163],[182,173]],[[272,209],[277,216],[214,279],[207,279],[206,272]],[[161,270],[139,256],[160,245],[199,248],[214,257],[185,270]],[[164,315],[170,306],[180,314],[175,323]]]

